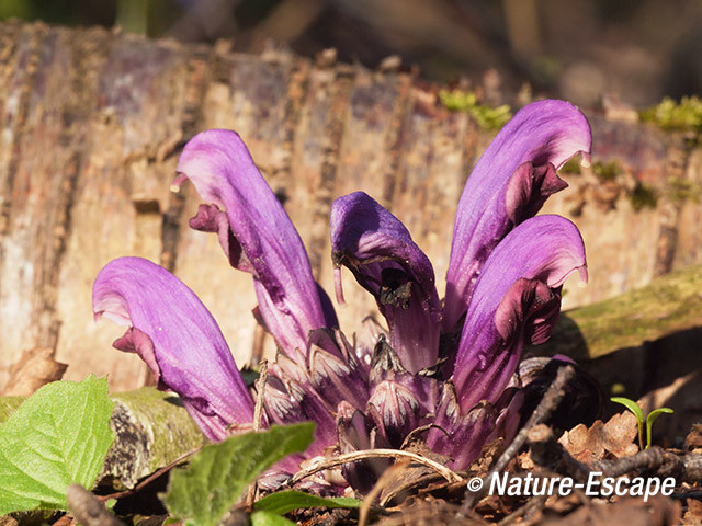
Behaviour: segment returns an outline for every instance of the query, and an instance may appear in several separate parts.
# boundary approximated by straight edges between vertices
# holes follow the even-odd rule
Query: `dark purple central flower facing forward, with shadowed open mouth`
[[[434,365],[441,304],[431,263],[407,228],[367,194],[355,192],[331,205],[331,251],[337,272],[346,265],[375,297],[404,367],[417,373]]]

